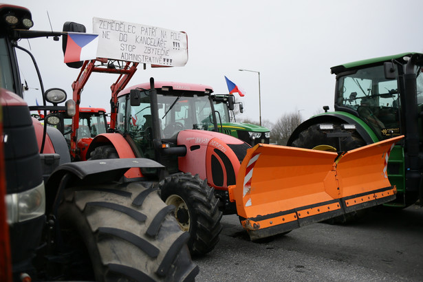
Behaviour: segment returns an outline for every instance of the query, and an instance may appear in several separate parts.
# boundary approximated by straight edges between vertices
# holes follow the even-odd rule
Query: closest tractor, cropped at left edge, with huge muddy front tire
[[[0,195],[6,199],[6,219],[0,205],[1,279],[193,280],[199,270],[186,248],[189,235],[157,186],[118,182],[131,167],[162,165],[138,159],[71,163],[61,132],[31,118],[16,50],[30,52],[17,43],[66,34],[32,31],[32,25],[28,9],[0,4]],[[44,91],[41,79],[40,85],[50,102],[66,99],[64,91]],[[45,113],[72,106],[43,104]]]

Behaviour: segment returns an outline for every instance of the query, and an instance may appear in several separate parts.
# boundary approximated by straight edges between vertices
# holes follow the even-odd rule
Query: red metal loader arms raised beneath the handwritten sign
[[[85,83],[87,83],[89,76],[93,72],[103,72],[107,74],[119,74],[116,83],[113,83],[110,87],[111,89],[111,114],[110,114],[110,128],[114,129],[116,127],[116,105],[118,102],[118,93],[124,89],[131,80],[133,74],[135,74],[138,63],[126,62],[125,66],[120,69],[111,69],[107,67],[96,67],[96,62],[107,63],[107,58],[96,58],[95,60],[85,61],[83,67],[80,69],[78,78],[72,83],[72,89],[74,90],[73,99],[76,103],[76,113],[72,118],[72,133],[71,133],[71,156],[72,158],[76,157],[76,132],[79,127],[79,104],[80,104],[80,93],[83,91]]]

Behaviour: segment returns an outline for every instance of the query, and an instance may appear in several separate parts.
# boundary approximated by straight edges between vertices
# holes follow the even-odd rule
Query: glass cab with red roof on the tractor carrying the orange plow
[[[118,94],[116,131],[127,135],[142,158],[157,159],[156,147],[169,147],[159,158],[177,171],[177,156],[185,148],[177,147],[180,131],[215,131],[215,113],[210,94],[213,88],[191,83],[155,82],[156,95],[149,83],[135,85]],[[157,99],[157,102],[155,102]],[[159,145],[158,140],[160,140]]]

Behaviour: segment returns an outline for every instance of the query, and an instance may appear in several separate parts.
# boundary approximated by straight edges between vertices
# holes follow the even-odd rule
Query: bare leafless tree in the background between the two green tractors
[[[274,122],[270,131],[270,142],[279,145],[286,145],[290,135],[301,124],[301,114],[298,110],[285,113]]]

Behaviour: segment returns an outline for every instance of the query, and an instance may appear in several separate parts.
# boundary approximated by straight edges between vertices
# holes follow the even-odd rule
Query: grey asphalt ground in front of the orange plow
[[[354,224],[311,224],[261,243],[224,215],[197,281],[423,281],[423,208],[373,210]]]

